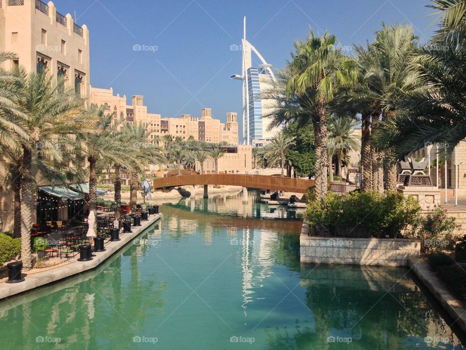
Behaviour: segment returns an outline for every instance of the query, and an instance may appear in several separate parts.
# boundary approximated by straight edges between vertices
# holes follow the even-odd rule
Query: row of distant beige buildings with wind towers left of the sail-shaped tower
[[[160,114],[148,113],[144,105],[144,96],[133,95],[132,104],[126,104],[126,95],[114,95],[113,89],[90,87],[89,101],[96,105],[105,105],[108,112],[115,112],[115,122],[126,119],[131,123],[141,123],[146,126],[148,140],[156,143],[158,137],[171,135],[187,140],[206,142],[226,142],[238,144],[238,122],[236,113],[227,113],[227,123],[212,118],[211,108],[202,108],[200,118],[182,114],[180,118],[162,118]],[[160,144],[160,141],[159,141]]]

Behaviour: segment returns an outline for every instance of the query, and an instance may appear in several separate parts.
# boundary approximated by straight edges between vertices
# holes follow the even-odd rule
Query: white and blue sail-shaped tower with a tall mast
[[[270,119],[263,119],[262,116],[271,113],[275,104],[272,100],[261,100],[260,97],[261,92],[269,89],[276,78],[271,70],[272,65],[246,40],[246,17],[243,24],[242,52],[242,74],[233,74],[230,78],[243,82],[243,144],[263,146],[280,130],[280,127],[267,130]],[[258,67],[252,67],[252,53],[262,62]]]

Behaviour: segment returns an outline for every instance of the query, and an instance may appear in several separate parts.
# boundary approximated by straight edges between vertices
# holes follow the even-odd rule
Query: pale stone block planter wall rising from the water
[[[408,266],[419,254],[420,243],[414,239],[308,236],[305,221],[300,235],[301,262]]]

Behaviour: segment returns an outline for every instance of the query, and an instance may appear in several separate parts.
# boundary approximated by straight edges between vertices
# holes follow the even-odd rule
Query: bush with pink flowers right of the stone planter
[[[447,216],[447,210],[434,206],[432,213],[421,218],[418,238],[423,252],[438,251],[453,243],[458,238],[454,231],[460,226],[456,219]]]

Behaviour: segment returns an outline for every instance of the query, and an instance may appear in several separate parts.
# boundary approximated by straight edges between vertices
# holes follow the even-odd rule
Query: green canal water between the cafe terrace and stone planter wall
[[[286,209],[241,198],[162,206],[100,268],[0,302],[0,349],[463,349],[406,269],[301,265]]]

